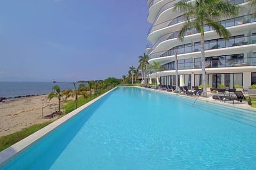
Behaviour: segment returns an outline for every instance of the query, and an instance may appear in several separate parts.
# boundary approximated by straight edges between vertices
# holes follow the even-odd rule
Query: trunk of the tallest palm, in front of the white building
[[[202,65],[202,78],[203,78],[203,96],[207,97],[206,81],[205,81],[205,54],[204,54],[204,26],[201,26],[201,65]]]

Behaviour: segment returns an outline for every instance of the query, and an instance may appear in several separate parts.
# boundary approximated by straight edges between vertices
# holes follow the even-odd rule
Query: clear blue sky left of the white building
[[[0,81],[121,78],[145,52],[146,0],[1,0]]]

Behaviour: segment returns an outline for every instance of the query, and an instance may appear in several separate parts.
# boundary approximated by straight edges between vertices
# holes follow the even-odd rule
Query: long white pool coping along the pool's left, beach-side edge
[[[9,163],[13,158],[17,157],[22,151],[24,151],[26,148],[29,146],[33,145],[36,141],[39,139],[43,138],[46,134],[50,133],[53,131],[55,128],[60,126],[62,123],[65,123],[68,121],[71,117],[75,116],[79,112],[81,112],[83,109],[86,107],[89,107],[92,105],[95,101],[98,101],[102,97],[106,96],[109,94],[109,92],[115,90],[117,87],[105,92],[105,94],[102,94],[101,96],[89,101],[88,103],[84,104],[81,107],[78,107],[74,111],[68,113],[67,115],[59,118],[58,120],[52,122],[51,124],[45,126],[41,130],[38,130],[37,132],[29,135],[25,139],[22,139],[21,141],[15,143],[14,145],[10,146],[9,148],[4,149],[3,151],[0,152],[0,168]]]

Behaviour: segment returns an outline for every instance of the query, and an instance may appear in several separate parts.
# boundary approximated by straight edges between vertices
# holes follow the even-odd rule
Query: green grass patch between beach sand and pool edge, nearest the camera
[[[15,132],[15,133],[0,137],[0,151],[12,146],[14,143],[17,143],[18,141],[28,137],[30,134],[35,133],[36,131],[44,128],[50,123],[52,123],[52,121],[48,121],[42,124],[35,124],[30,126],[29,128],[24,128],[19,132]]]

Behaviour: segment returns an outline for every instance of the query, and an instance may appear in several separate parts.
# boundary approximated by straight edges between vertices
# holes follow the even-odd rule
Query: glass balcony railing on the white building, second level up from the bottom
[[[234,46],[243,46],[248,44],[256,44],[256,34],[252,36],[233,36],[230,37],[229,40],[225,40],[223,38],[208,40],[205,41],[204,49],[205,51],[211,49],[220,49],[220,48],[227,48],[227,47],[234,47]],[[149,58],[161,58],[165,56],[172,56],[174,52],[177,51],[178,54],[187,54],[187,53],[194,53],[201,51],[201,44],[200,42],[195,43],[194,45],[181,45],[176,46],[170,50],[163,52],[158,52],[154,54],[150,54]]]

